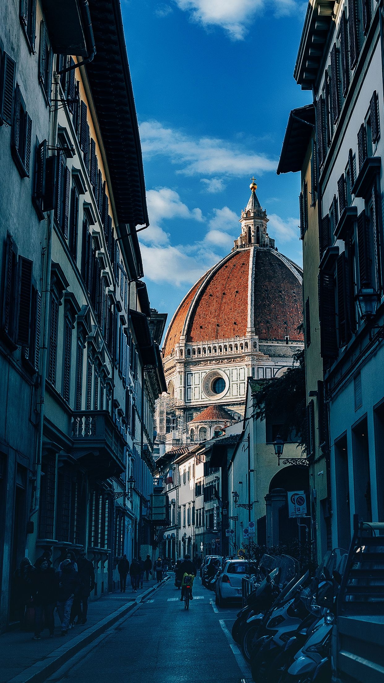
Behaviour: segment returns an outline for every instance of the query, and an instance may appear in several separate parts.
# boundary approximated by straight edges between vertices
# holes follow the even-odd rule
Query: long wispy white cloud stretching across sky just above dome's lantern
[[[254,154],[217,138],[193,139],[180,130],[165,128],[158,121],[146,121],[140,126],[144,157],[167,156],[178,165],[178,173],[187,176],[241,177],[252,173],[275,171],[277,161],[264,154]]]

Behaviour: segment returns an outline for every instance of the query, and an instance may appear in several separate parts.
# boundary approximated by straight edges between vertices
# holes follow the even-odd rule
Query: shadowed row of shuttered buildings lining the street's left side
[[[72,10],[2,8],[2,627],[20,617],[25,555],[50,550],[57,567],[84,546],[97,597],[120,555],[150,548],[166,385],[135,231],[148,225],[135,105],[120,5]]]

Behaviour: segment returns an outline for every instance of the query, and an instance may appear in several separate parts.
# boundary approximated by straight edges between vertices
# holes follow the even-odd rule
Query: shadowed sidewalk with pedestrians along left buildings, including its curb
[[[165,579],[166,580],[166,579]],[[0,683],[27,683],[44,681],[82,647],[91,643],[114,622],[128,613],[138,602],[156,590],[156,581],[145,581],[143,589],[133,594],[131,586],[126,593],[109,593],[88,603],[87,623],[74,626],[68,635],[60,635],[60,622],[55,613],[55,638],[48,630],[40,641],[33,640],[33,632],[9,631],[0,636]]]

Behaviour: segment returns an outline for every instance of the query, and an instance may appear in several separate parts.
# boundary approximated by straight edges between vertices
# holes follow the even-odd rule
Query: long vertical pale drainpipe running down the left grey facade
[[[55,149],[57,145],[57,115],[59,104],[59,83],[60,79],[57,73],[53,74],[55,85],[53,87],[53,124],[51,129],[51,148]],[[46,247],[45,247],[45,267],[43,266],[42,275],[42,302],[43,302],[43,324],[42,324],[42,358],[41,358],[41,372],[40,372],[40,391],[38,396],[38,443],[36,447],[36,489],[34,507],[29,514],[32,519],[40,507],[40,490],[41,490],[41,462],[42,462],[42,441],[44,430],[44,402],[45,402],[45,384],[46,384],[46,357],[48,350],[48,327],[49,327],[49,297],[51,294],[51,260],[52,260],[52,234],[53,234],[53,216],[54,210],[51,210],[48,215],[46,223]]]

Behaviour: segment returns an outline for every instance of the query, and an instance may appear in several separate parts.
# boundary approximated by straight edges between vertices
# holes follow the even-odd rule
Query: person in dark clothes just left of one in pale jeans
[[[53,638],[59,579],[44,555],[36,560],[35,567],[36,571],[33,572],[32,579],[33,604],[35,607],[35,635],[33,640],[40,640],[44,628],[48,628],[49,637]]]

